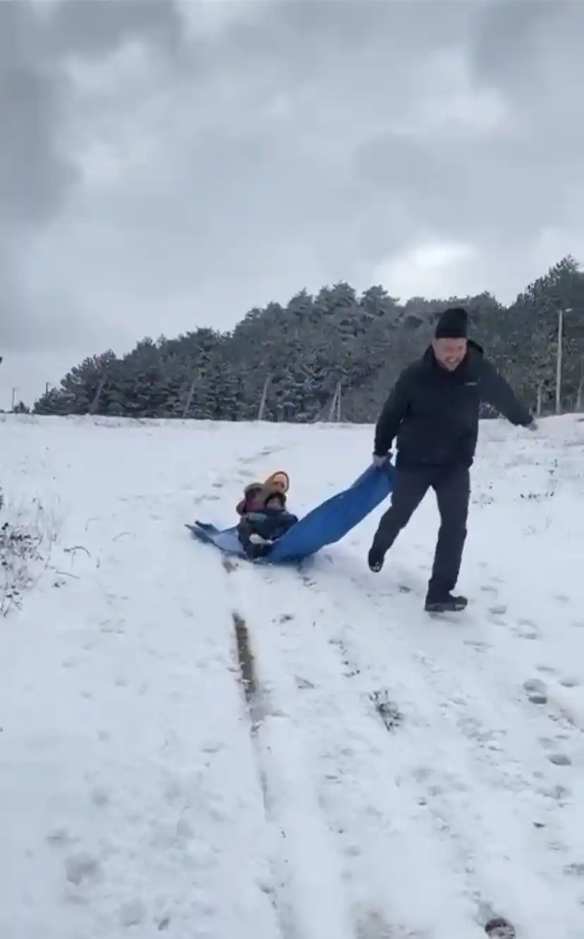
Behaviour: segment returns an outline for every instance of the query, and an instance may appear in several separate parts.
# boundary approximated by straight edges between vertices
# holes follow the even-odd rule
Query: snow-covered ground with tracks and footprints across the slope
[[[0,935],[581,939],[584,423],[484,424],[443,621],[431,496],[377,577],[379,512],[303,573],[229,573],[183,528],[280,468],[302,513],[371,428],[1,433],[57,540],[0,620]]]

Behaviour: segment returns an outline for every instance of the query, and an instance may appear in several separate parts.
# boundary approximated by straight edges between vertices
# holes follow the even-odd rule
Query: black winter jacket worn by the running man
[[[510,385],[469,340],[453,372],[438,365],[432,347],[408,365],[379,416],[375,454],[387,454],[397,438],[398,466],[471,466],[484,401],[508,421],[527,426],[531,415]]]

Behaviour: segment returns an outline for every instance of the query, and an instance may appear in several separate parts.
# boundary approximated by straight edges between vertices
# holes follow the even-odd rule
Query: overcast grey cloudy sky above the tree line
[[[584,259],[584,3],[0,2],[0,407],[302,286]]]

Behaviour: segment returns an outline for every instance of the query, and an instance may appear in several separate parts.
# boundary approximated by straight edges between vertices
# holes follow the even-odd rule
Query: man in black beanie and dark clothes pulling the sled
[[[451,307],[438,320],[422,359],[408,365],[395,383],[377,421],[374,463],[397,458],[392,505],[381,516],[368,562],[383,567],[386,552],[433,488],[440,513],[438,544],[425,609],[464,609],[467,598],[453,596],[467,537],[470,473],[479,432],[479,406],[487,402],[515,425],[535,429],[530,412],[504,378],[468,339],[465,310]]]

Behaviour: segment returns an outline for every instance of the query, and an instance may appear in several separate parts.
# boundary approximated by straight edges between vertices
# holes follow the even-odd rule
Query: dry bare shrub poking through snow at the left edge
[[[0,619],[21,607],[23,594],[35,586],[46,567],[54,541],[42,524],[39,505],[31,521],[23,513],[13,520],[4,517],[4,507],[0,491]]]

